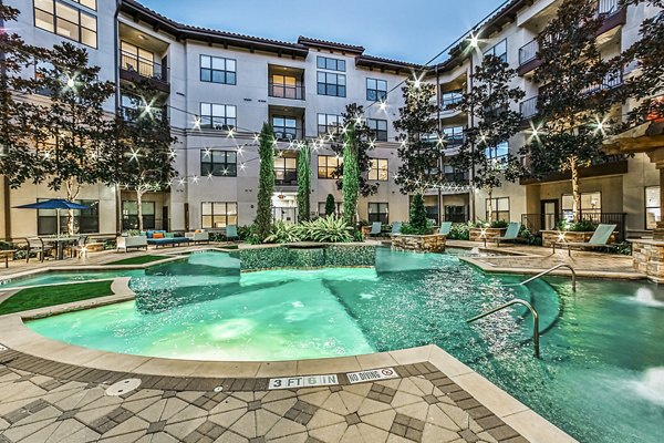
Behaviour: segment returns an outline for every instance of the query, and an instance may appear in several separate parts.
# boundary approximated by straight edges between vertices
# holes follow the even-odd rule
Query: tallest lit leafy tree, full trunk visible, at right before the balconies
[[[533,130],[523,150],[531,173],[542,176],[570,171],[573,218],[579,220],[579,168],[603,159],[602,140],[613,97],[602,87],[606,78],[620,75],[603,61],[595,37],[603,17],[594,0],[564,0],[557,16],[538,35],[541,66],[535,73],[540,87],[542,124]]]

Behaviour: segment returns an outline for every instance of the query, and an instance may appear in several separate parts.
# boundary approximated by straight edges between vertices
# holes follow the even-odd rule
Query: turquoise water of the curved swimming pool
[[[221,253],[132,278],[136,301],[31,321],[73,344],[146,356],[282,360],[436,343],[583,442],[660,442],[664,291],[568,279],[508,285],[453,255],[380,249],[376,269],[239,274]],[[465,320],[513,297],[541,316],[540,360],[522,309]]]

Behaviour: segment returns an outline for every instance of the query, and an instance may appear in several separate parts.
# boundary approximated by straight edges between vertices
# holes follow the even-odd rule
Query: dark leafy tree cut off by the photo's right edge
[[[639,106],[630,113],[630,121],[641,124],[644,121],[664,117],[664,0],[624,0],[623,4],[645,3],[662,8],[654,17],[643,21],[641,39],[621,56],[620,63],[626,65],[636,62],[639,75],[632,75],[625,82],[625,94],[639,100]]]

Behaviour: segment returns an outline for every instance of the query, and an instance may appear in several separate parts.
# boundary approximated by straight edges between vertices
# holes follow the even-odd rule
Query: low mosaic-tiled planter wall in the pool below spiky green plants
[[[376,265],[376,246],[361,243],[320,244],[308,248],[266,245],[242,248],[238,255],[241,271],[283,268],[359,268]]]

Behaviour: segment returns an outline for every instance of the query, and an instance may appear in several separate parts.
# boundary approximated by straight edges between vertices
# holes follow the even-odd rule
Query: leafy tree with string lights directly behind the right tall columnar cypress
[[[345,112],[341,114],[343,117],[343,127],[350,125],[355,126],[355,145],[357,146],[357,171],[359,171],[359,192],[363,197],[369,197],[378,192],[378,183],[370,183],[367,178],[369,169],[371,168],[370,152],[374,150],[375,136],[372,130],[366,125],[364,120],[364,107],[356,103],[346,105]],[[342,130],[334,143],[332,143],[332,150],[338,154],[343,154],[344,141],[346,134]],[[340,164],[336,169],[332,173],[333,177],[336,177],[336,188],[343,189],[343,163]]]

